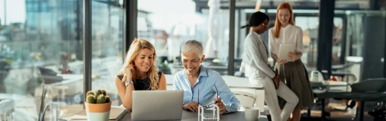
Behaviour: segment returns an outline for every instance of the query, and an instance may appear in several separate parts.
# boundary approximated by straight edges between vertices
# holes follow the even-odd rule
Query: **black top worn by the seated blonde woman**
[[[162,72],[158,71],[158,81],[161,78]],[[119,79],[122,80],[123,75],[117,75]],[[135,90],[151,90],[150,89],[150,79],[149,77],[146,77],[145,79],[135,79],[134,82],[134,89]],[[158,84],[158,82],[157,82]]]

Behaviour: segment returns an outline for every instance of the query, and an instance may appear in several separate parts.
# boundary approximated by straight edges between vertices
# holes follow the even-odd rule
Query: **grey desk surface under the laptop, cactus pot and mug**
[[[205,113],[211,113],[213,112],[212,110],[205,110]],[[191,111],[186,111],[186,110],[182,110],[182,118],[181,120],[182,121],[197,121],[198,120],[198,112],[191,112]],[[264,112],[261,112],[260,113],[260,119],[259,121],[268,121],[268,118],[266,117],[265,113]],[[223,115],[220,115],[220,120],[221,121],[227,121],[227,120],[240,120],[240,121],[243,121],[243,120],[246,120],[245,119],[245,113],[244,111],[238,111],[238,112],[233,112],[233,113],[229,113],[229,114],[223,114]],[[119,119],[119,121],[130,121],[131,120],[131,114],[130,112],[126,113],[125,116],[123,116],[121,119]],[[80,120],[69,120],[69,121],[80,121]],[[115,120],[114,120],[115,121]]]

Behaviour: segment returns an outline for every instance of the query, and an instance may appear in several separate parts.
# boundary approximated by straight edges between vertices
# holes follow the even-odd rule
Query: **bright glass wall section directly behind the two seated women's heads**
[[[204,46],[206,59],[202,64],[227,74],[229,10],[215,6],[196,12],[196,3],[190,0],[138,1],[138,38],[155,46],[160,71],[174,75],[183,70],[181,46],[187,40],[197,40]]]

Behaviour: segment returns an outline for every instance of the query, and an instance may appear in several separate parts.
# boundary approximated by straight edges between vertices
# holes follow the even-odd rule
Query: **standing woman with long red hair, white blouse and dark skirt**
[[[302,60],[303,55],[303,30],[295,26],[294,13],[291,5],[282,3],[277,7],[275,27],[269,29],[270,55],[276,61],[275,70],[280,80],[299,97],[299,103],[292,112],[293,121],[300,120],[301,108],[314,104],[310,80]],[[296,49],[288,52],[287,57],[278,58],[280,44],[295,44]],[[285,100],[278,98],[280,108],[283,109]]]

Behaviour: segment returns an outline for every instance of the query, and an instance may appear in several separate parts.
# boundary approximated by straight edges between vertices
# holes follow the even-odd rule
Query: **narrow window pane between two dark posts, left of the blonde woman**
[[[112,105],[122,104],[115,76],[122,66],[124,9],[92,1],[92,90],[105,89]]]

